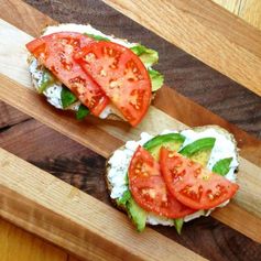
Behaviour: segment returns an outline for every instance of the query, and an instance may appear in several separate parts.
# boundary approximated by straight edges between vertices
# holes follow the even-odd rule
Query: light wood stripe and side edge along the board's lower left
[[[126,215],[2,149],[0,176],[1,216],[80,258],[204,260],[152,229],[137,233]]]

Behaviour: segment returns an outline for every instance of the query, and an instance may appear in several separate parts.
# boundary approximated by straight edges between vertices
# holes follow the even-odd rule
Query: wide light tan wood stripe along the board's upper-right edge
[[[208,0],[105,2],[261,95],[261,32],[217,4]]]

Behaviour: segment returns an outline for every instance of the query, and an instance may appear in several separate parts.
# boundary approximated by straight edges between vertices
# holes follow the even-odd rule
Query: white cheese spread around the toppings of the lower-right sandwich
[[[176,133],[177,131],[168,131],[165,130],[161,134],[166,133]],[[202,138],[216,138],[215,145],[211,151],[210,160],[208,162],[207,168],[211,170],[213,165],[224,159],[224,157],[232,157],[232,162],[230,164],[231,170],[226,175],[226,178],[228,178],[231,182],[235,182],[236,175],[235,170],[238,166],[238,160],[237,160],[237,148],[232,143],[232,141],[229,139],[229,137],[225,135],[224,133],[219,132],[215,128],[207,128],[203,131],[194,131],[194,130],[184,130],[181,132],[184,137],[186,137],[186,140],[183,144],[185,146],[186,144],[202,139]],[[146,141],[151,140],[153,137],[150,135],[146,132],[141,133],[141,140],[139,141],[128,141],[123,149],[117,150],[109,160],[110,168],[108,171],[108,180],[109,183],[112,186],[110,197],[112,199],[117,199],[122,197],[123,193],[128,189],[127,184],[127,173],[128,168],[131,162],[131,159],[138,149],[139,145],[143,145]],[[229,200],[222,203],[218,207],[224,207],[227,205]],[[187,215],[184,217],[184,221],[189,221],[192,219],[198,218],[200,216],[208,216],[214,209],[209,210],[198,210],[194,214]],[[150,225],[164,225],[164,226],[174,226],[173,219],[167,219],[164,217],[156,216],[154,214],[148,214],[146,222]]]

